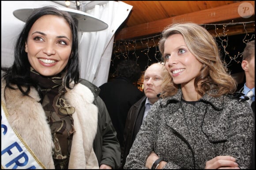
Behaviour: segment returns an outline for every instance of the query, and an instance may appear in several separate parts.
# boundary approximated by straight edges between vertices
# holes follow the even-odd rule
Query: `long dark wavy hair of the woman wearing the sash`
[[[66,75],[64,77],[64,85],[69,89],[72,89],[73,87],[70,87],[69,83],[74,80],[75,84],[77,84],[79,81],[80,64],[78,56],[78,33],[75,20],[70,14],[68,14],[68,12],[61,11],[54,6],[37,8],[34,9],[30,17],[27,19],[26,24],[24,25],[15,43],[13,65],[9,68],[1,68],[1,70],[5,72],[3,78],[6,81],[7,87],[14,89],[12,85],[17,85],[19,90],[24,95],[28,95],[31,86],[34,86],[38,90],[40,89],[40,87],[38,87],[38,84],[30,79],[31,65],[25,51],[25,43],[28,38],[28,33],[34,22],[36,22],[38,18],[48,14],[64,18],[68,22],[72,31],[72,50],[69,56],[68,64],[63,70],[66,72]],[[22,87],[26,87],[25,90]]]

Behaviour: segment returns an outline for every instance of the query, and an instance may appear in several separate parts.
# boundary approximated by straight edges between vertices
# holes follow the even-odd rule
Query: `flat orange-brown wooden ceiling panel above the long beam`
[[[132,11],[124,27],[188,14],[239,1],[123,1],[132,5]]]

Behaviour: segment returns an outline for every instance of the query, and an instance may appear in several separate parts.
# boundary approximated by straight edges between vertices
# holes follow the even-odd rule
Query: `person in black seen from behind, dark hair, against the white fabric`
[[[117,78],[99,87],[99,96],[105,102],[120,145],[123,143],[127,113],[143,97],[143,92],[133,84],[140,76],[141,70],[135,61],[123,60],[117,65]]]

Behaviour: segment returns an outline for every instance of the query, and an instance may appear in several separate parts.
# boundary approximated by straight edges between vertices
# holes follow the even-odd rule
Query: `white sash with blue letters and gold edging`
[[[1,169],[46,169],[18,132],[12,129],[8,116],[1,101]]]

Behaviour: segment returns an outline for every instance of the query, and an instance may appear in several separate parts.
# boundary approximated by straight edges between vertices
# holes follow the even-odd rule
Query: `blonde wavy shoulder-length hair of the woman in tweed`
[[[181,34],[189,51],[203,64],[194,83],[198,94],[203,96],[208,93],[218,97],[223,94],[233,94],[236,91],[237,82],[230,73],[226,72],[215,38],[205,28],[195,23],[176,23],[164,29],[158,47],[165,63],[164,43],[173,34]],[[176,94],[178,86],[173,83],[170,74],[166,76],[161,87],[162,98]],[[209,93],[211,90],[214,90],[214,93]]]

